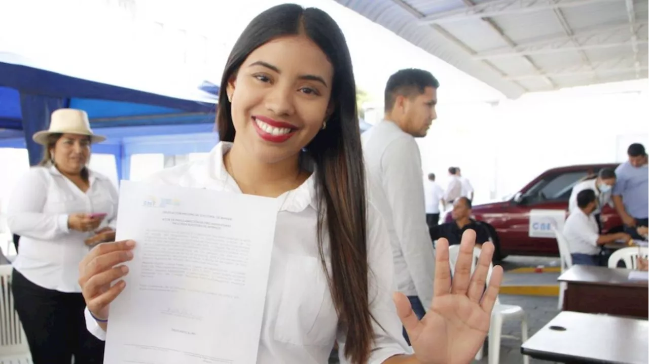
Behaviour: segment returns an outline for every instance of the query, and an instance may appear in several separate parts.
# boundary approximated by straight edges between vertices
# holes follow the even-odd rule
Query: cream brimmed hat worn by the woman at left
[[[105,141],[106,137],[95,135],[90,129],[88,114],[86,111],[78,109],[58,109],[52,113],[52,119],[49,123],[48,130],[41,130],[34,133],[32,139],[42,145],[47,145],[47,137],[55,133],[69,133],[88,135],[90,142]]]

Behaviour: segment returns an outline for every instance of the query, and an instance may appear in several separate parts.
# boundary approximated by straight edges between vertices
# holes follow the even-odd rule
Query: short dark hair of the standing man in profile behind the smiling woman
[[[423,69],[408,68],[397,71],[390,76],[386,85],[386,111],[391,111],[397,96],[413,97],[421,95],[426,87],[439,88],[439,81],[432,73]]]

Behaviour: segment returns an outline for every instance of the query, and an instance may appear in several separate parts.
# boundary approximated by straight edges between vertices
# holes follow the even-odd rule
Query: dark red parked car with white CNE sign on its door
[[[575,165],[552,168],[533,179],[507,201],[474,205],[474,218],[483,222],[495,244],[495,258],[508,255],[559,256],[557,242],[552,238],[529,236],[530,210],[563,209],[568,211],[572,187],[602,168],[617,168],[618,164]],[[608,205],[600,216],[603,233],[622,231],[622,220]],[[450,213],[445,222],[452,221]]]

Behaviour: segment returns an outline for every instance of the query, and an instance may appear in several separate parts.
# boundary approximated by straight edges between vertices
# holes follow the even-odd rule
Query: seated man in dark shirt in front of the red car
[[[482,243],[489,241],[489,231],[481,222],[471,218],[471,199],[461,197],[453,203],[453,222],[443,223],[430,228],[430,237],[433,241],[439,238],[446,238],[448,245],[459,244],[462,240],[462,234],[467,229],[476,232],[476,246],[480,247]]]

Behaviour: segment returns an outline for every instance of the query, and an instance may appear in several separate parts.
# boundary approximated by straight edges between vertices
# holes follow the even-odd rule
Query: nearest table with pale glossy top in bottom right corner
[[[564,311],[523,343],[520,352],[559,363],[646,364],[648,343],[647,320]]]

